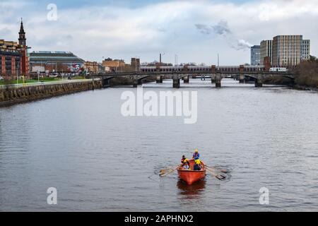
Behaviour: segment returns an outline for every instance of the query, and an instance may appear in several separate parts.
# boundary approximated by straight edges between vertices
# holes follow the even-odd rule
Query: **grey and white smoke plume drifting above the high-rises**
[[[220,20],[216,25],[204,25],[204,24],[196,24],[196,29],[199,30],[204,35],[220,35],[227,40],[228,44],[232,49],[244,50],[249,49],[252,47],[252,44],[245,40],[239,40],[235,35],[232,33],[230,28],[228,27],[228,21]]]

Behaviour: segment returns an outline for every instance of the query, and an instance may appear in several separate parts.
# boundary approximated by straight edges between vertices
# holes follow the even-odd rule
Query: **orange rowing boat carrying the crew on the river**
[[[190,160],[190,169],[194,169],[194,160]],[[201,170],[189,170],[184,169],[183,167],[179,167],[178,174],[179,178],[182,179],[184,182],[187,182],[187,184],[191,185],[195,182],[199,182],[199,180],[204,179],[206,177],[206,165],[204,162],[201,162],[201,165],[203,166]]]

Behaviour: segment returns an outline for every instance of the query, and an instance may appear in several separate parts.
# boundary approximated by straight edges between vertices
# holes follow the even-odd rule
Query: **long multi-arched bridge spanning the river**
[[[211,82],[221,87],[223,78],[236,78],[240,83],[245,82],[245,78],[254,78],[255,86],[262,87],[263,81],[268,78],[285,77],[294,80],[291,71],[269,71],[265,66],[141,66],[136,71],[111,72],[98,75],[91,75],[90,78],[101,78],[104,85],[109,85],[113,78],[126,77],[131,79],[134,87],[142,85],[143,79],[153,77],[157,83],[163,83],[163,79],[172,79],[173,88],[180,87],[180,80],[189,83],[189,78],[203,77],[211,78]]]

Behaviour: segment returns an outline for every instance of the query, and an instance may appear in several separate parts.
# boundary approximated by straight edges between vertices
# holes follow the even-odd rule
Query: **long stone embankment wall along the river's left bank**
[[[0,90],[0,107],[102,88],[102,81],[26,86]]]

